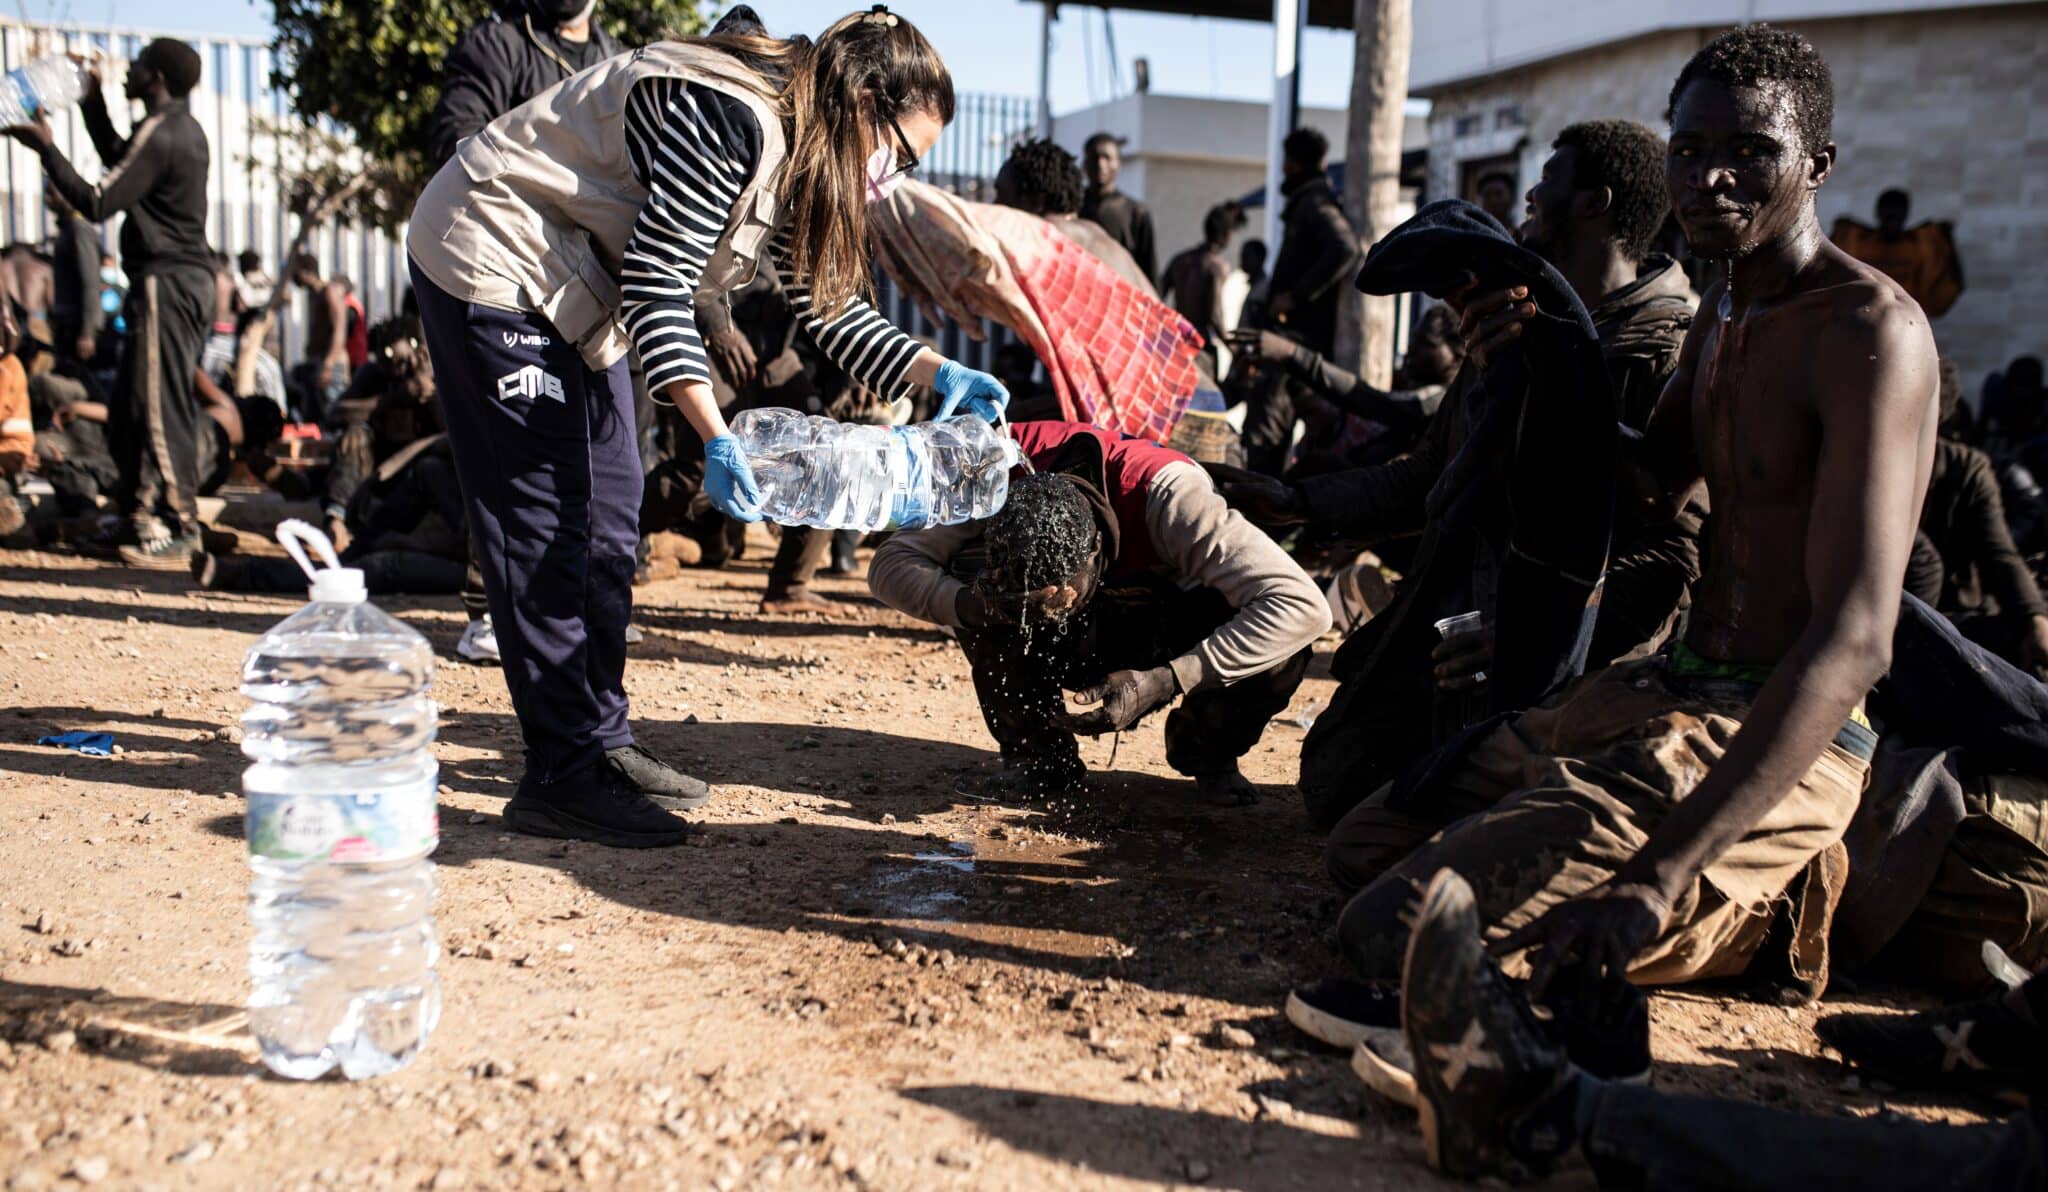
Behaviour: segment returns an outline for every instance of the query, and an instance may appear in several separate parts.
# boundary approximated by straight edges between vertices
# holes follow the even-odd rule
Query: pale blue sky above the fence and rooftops
[[[600,4],[612,0],[598,0]],[[616,0],[625,2],[625,0]],[[752,0],[776,33],[817,33],[852,0]],[[35,20],[70,18],[170,33],[268,37],[268,2],[250,0],[16,0]],[[1018,0],[895,0],[946,55],[963,90],[1038,92],[1038,6]],[[12,14],[12,12],[10,12]],[[1260,100],[1270,94],[1272,27],[1112,12],[1120,84],[1110,86],[1102,12],[1065,8],[1055,25],[1053,107],[1073,111],[1130,88],[1130,59],[1149,57],[1153,90]],[[1094,63],[1094,72],[1090,72]],[[1303,47],[1303,102],[1346,107],[1352,37],[1313,31]]]

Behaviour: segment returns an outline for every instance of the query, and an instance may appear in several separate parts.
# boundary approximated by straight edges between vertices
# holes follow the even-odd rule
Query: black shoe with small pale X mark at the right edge
[[[1835,1014],[1815,1024],[1841,1059],[1896,1085],[2032,1092],[2048,1073],[2048,1032],[2007,993],[1921,1014]]]

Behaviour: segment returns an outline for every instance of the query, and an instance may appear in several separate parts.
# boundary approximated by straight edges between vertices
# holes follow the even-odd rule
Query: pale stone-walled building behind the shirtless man
[[[1956,223],[1968,283],[1935,322],[1966,391],[2048,350],[2048,4],[2007,0],[1430,0],[1409,88],[1432,100],[1430,197],[1509,168],[1526,186],[1559,129],[1628,117],[1663,131],[1671,82],[1722,29],[1806,35],[1835,76],[1835,176],[1821,221],[1872,221],[1905,186],[1913,219]]]

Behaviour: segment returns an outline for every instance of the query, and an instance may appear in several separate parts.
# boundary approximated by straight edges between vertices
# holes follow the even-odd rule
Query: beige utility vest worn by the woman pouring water
[[[449,295],[547,317],[592,369],[631,342],[618,320],[618,272],[647,186],[627,156],[627,98],[649,78],[680,78],[754,111],[762,158],[698,285],[754,279],[780,221],[776,182],[788,156],[766,82],[705,45],[659,41],[561,80],[465,139],[412,211],[406,252]]]

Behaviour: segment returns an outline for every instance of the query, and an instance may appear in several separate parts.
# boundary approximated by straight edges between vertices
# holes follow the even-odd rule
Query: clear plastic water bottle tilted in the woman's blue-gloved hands
[[[981,418],[856,426],[795,410],[733,420],[762,485],[762,512],[786,526],[920,530],[985,518],[1010,500],[1016,442]]]

